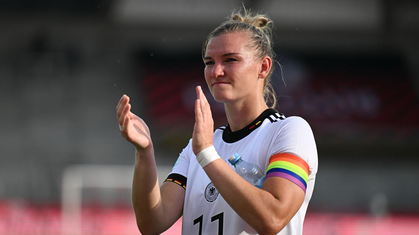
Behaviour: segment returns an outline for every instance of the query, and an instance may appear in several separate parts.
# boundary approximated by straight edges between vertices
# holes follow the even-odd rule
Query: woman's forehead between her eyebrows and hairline
[[[246,32],[226,33],[211,38],[207,45],[205,56],[217,56],[225,53],[246,53],[246,44],[250,37]]]

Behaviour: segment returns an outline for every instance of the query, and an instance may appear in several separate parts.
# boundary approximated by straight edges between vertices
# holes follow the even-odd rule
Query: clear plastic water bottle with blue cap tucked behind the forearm
[[[262,188],[265,174],[257,165],[243,161],[238,153],[233,154],[228,162],[234,166],[237,174],[243,179],[260,189]]]

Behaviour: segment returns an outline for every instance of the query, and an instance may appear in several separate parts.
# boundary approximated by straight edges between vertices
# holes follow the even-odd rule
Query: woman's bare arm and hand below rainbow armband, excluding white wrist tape
[[[192,136],[195,155],[211,146],[213,139],[211,110],[200,87],[197,97]],[[261,190],[241,178],[222,159],[207,164],[204,171],[230,207],[259,234],[277,234],[304,201],[304,191],[293,182],[272,177],[266,179]]]

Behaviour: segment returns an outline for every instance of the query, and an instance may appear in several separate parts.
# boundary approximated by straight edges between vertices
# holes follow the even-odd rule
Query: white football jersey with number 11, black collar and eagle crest
[[[182,234],[256,234],[214,187],[197,162],[191,142],[183,149],[166,179],[186,189]],[[266,109],[241,130],[232,132],[228,125],[215,130],[214,147],[224,161],[237,152],[244,161],[264,170],[266,178],[284,177],[300,186],[305,191],[303,205],[278,234],[303,233],[304,216],[317,172],[316,143],[304,119],[297,116],[285,118],[274,109]]]

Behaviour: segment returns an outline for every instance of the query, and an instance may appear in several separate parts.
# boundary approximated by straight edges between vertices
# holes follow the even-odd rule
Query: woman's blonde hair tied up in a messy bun
[[[207,38],[205,38],[204,44],[202,45],[202,59],[204,59],[205,52],[207,51],[207,45],[211,38],[227,33],[244,31],[248,32],[250,35],[251,41],[248,43],[248,46],[256,49],[256,57],[259,59],[264,56],[269,56],[272,61],[275,62],[276,54],[273,50],[272,28],[272,20],[270,20],[268,16],[263,13],[246,10],[244,7],[239,10],[234,10],[231,15],[227,17],[226,21],[212,30],[212,32],[208,34]],[[274,109],[277,106],[277,97],[271,84],[271,76],[274,71],[274,67],[275,63],[272,63],[271,70],[264,80],[263,88],[263,98],[265,104],[271,109]]]

